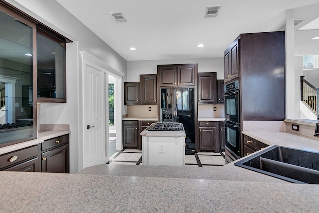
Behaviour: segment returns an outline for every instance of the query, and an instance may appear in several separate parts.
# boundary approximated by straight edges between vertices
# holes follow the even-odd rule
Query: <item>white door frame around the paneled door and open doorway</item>
[[[81,56],[81,65],[82,68],[80,69],[81,73],[79,75],[79,125],[78,125],[78,139],[79,139],[79,144],[78,144],[78,171],[82,170],[84,167],[84,162],[83,162],[83,155],[84,155],[84,150],[83,150],[83,144],[85,143],[85,138],[86,138],[86,120],[85,120],[85,112],[84,112],[84,106],[85,106],[85,101],[84,100],[84,94],[85,94],[85,72],[86,72],[86,67],[90,66],[92,68],[95,68],[97,70],[102,71],[103,75],[108,75],[111,74],[112,76],[114,76],[116,79],[119,79],[120,83],[122,83],[122,77],[125,75],[124,73],[122,73],[121,71],[109,66],[107,63],[103,62],[102,60],[96,58],[95,56],[85,52],[85,51],[80,51],[80,56]],[[105,80],[104,76],[102,78],[103,80]],[[104,82],[104,85],[107,82]],[[120,87],[121,88],[121,87]],[[105,90],[105,87],[103,87],[103,89]],[[117,88],[118,89],[118,88]],[[122,88],[121,88],[122,89]],[[119,91],[119,92],[122,92]],[[118,93],[117,93],[118,94]],[[101,100],[101,103],[105,104],[106,101],[106,95],[104,95],[104,100]],[[122,98],[118,98],[118,99],[122,99]],[[120,101],[121,106],[123,105],[123,101]],[[119,108],[119,107],[118,107]],[[108,105],[105,106],[105,110],[108,110]],[[117,119],[117,123],[122,123],[122,117],[119,118],[118,114],[122,115],[122,107],[120,108],[120,110],[117,110],[117,116],[115,119]],[[107,120],[108,118],[108,114],[105,113],[105,120]],[[120,119],[120,120],[119,120]],[[107,120],[108,122],[108,120]],[[121,128],[121,134],[122,135],[122,128]],[[104,134],[104,141],[108,142],[108,137],[109,137],[109,132],[108,132],[108,128],[106,128],[105,130],[105,134]],[[122,138],[119,138],[122,141]],[[106,156],[106,160],[108,162],[108,150],[105,150],[105,156]]]

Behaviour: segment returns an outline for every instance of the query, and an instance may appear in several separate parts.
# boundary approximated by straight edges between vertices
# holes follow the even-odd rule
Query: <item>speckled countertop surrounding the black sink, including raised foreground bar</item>
[[[318,141],[305,137],[244,133],[270,145],[319,152]],[[0,172],[0,181],[5,213],[319,212],[319,185],[289,183],[233,163],[216,168],[106,164],[77,174]]]

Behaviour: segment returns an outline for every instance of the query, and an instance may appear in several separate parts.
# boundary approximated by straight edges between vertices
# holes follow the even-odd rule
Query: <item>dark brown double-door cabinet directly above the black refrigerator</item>
[[[197,64],[158,65],[160,87],[195,86]]]

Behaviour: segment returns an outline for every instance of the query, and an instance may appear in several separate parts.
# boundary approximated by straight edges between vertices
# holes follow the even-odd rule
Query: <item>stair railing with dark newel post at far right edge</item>
[[[311,83],[304,79],[305,76],[300,76],[300,100],[304,102],[308,108],[319,115],[319,88],[314,87]]]

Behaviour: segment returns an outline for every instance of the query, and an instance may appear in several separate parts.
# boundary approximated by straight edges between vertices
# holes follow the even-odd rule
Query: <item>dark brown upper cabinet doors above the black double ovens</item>
[[[224,82],[240,77],[238,38],[224,52]]]

